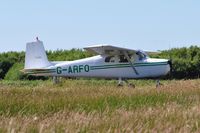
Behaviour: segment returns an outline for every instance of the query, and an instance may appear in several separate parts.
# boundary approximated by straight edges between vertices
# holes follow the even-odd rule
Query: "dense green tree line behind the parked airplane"
[[[93,56],[82,49],[47,51],[50,61],[71,61]],[[193,79],[200,76],[200,47],[173,48],[151,54],[150,57],[166,58],[172,60],[172,72],[167,78]],[[0,79],[6,80],[34,80],[48,79],[48,77],[35,77],[24,75],[20,70],[24,67],[25,52],[0,53]]]

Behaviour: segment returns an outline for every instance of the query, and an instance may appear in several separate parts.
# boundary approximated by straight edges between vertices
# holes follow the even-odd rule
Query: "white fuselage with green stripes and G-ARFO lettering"
[[[145,58],[135,60],[134,72],[129,62],[105,62],[105,56],[98,55],[75,61],[51,62],[45,71],[32,74],[60,77],[98,77],[98,78],[151,78],[166,75],[170,65],[166,59]]]

